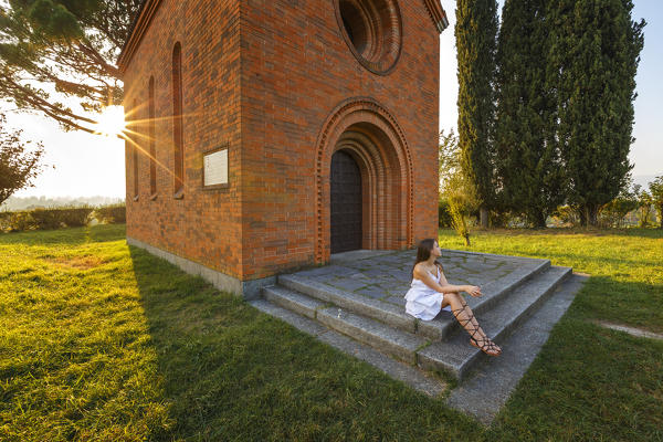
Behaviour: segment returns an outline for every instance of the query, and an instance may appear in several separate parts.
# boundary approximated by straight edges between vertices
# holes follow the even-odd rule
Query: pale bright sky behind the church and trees
[[[440,35],[440,129],[457,133],[456,59],[453,27],[455,1],[442,0],[450,25]],[[503,0],[498,1],[502,8]],[[663,175],[663,1],[634,0],[633,19],[644,18],[644,49],[638,69],[635,124],[629,156],[634,177]],[[0,108],[8,109],[7,105]],[[7,113],[11,128],[23,129],[25,139],[41,140],[49,168],[34,180],[34,187],[15,197],[125,197],[124,141],[117,138],[64,133],[52,120],[36,115]]]

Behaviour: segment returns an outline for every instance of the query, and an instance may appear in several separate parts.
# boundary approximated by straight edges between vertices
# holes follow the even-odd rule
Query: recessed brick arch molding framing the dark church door
[[[316,143],[316,263],[329,260],[329,175],[332,155],[339,149],[354,152],[355,158],[359,159],[362,179],[368,179],[367,198],[370,202],[369,219],[366,221],[370,223],[370,229],[362,241],[364,246],[412,246],[412,157],[404,133],[393,115],[377,101],[354,97],[334,108]],[[387,198],[379,198],[381,192]]]

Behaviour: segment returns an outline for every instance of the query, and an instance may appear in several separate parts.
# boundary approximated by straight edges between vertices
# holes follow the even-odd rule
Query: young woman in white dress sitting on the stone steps
[[[417,262],[412,269],[412,285],[406,294],[406,312],[417,318],[431,320],[442,308],[451,311],[470,334],[470,344],[488,356],[499,356],[502,349],[484,333],[461,295],[461,292],[467,292],[478,297],[482,296],[481,288],[475,285],[449,284],[442,265],[436,262],[441,255],[438,241],[428,239],[419,243]]]

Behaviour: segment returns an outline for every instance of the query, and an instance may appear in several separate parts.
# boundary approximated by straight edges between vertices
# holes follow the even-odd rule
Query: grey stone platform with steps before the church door
[[[251,303],[427,394],[446,392],[444,379],[456,378],[448,402],[487,423],[581,281],[548,260],[443,250],[448,281],[482,288],[482,297],[465,298],[503,347],[501,357],[488,358],[469,344],[450,313],[431,322],[404,313],[414,256],[413,250],[336,254],[324,267],[280,275],[276,285],[263,288],[263,298]]]

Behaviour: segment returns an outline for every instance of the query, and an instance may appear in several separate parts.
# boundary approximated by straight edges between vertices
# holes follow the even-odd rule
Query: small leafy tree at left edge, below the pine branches
[[[7,119],[0,114],[0,204],[17,190],[32,186],[41,171],[43,146],[21,140],[21,130],[6,131]]]

